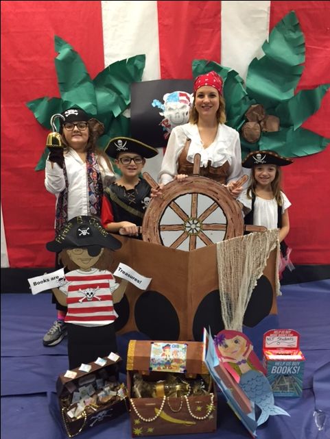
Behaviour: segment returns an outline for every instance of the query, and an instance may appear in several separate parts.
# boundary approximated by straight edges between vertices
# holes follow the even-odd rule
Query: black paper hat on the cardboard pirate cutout
[[[47,250],[60,252],[63,249],[74,249],[77,247],[91,247],[95,249],[95,255],[99,249],[106,247],[110,250],[117,250],[121,242],[108,233],[93,216],[75,216],[65,223],[54,241],[47,242]],[[89,251],[90,254],[92,254]]]

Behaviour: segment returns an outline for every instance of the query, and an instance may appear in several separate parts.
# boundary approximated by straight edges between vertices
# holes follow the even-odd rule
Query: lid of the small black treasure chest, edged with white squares
[[[81,383],[84,377],[86,381],[89,381],[89,377],[101,371],[101,369],[105,369],[108,375],[116,375],[119,362],[121,362],[119,355],[112,352],[106,358],[97,358],[95,362],[81,364],[78,368],[62,373],[56,381],[56,392],[58,395],[66,390],[71,392],[72,384],[75,381],[80,381]]]

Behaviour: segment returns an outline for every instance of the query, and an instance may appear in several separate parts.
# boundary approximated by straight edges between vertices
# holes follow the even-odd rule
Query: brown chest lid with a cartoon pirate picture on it
[[[127,370],[139,371],[142,375],[150,372],[209,374],[203,358],[202,342],[130,340]]]

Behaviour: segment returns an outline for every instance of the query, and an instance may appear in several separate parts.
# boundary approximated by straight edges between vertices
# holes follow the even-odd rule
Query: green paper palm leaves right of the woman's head
[[[194,60],[193,77],[212,70],[222,77],[226,124],[237,131],[246,123],[245,113],[250,105],[261,104],[266,114],[279,118],[279,131],[261,132],[257,142],[248,142],[240,131],[242,158],[258,149],[276,151],[286,157],[322,151],[330,139],[303,129],[301,125],[320,108],[330,84],[296,93],[305,62],[305,38],[294,11],[274,27],[262,49],[263,57],[255,58],[248,66],[246,89],[237,72],[216,62]]]

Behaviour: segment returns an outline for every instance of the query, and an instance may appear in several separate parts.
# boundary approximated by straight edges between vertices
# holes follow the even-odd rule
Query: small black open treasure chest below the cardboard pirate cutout
[[[117,380],[120,360],[111,353],[58,377],[56,391],[69,438],[128,411],[126,387]]]

